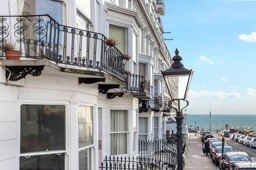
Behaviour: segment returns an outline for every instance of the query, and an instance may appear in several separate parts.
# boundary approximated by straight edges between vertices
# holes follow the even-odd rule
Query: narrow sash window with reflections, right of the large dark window
[[[91,169],[91,148],[93,140],[93,107],[78,107],[79,126],[79,169]]]

